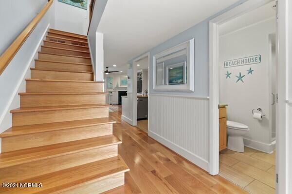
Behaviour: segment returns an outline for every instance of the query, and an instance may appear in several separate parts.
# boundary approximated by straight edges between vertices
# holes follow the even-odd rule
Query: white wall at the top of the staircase
[[[55,0],[55,29],[87,35],[90,2],[85,10]]]

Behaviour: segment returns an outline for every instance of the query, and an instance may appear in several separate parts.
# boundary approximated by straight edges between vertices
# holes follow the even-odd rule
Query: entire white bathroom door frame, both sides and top
[[[237,7],[223,13],[220,16],[212,19],[209,23],[209,95],[210,95],[210,163],[209,173],[211,175],[217,175],[219,173],[219,72],[218,72],[218,60],[219,60],[219,25],[223,24],[237,16],[245,14],[257,7],[265,5],[273,0],[248,0]],[[291,1],[291,0],[290,0]],[[279,175],[279,181],[276,185],[277,194],[288,194],[289,187],[289,175],[288,175],[288,163],[287,157],[292,153],[288,153],[287,134],[289,130],[287,127],[287,103],[289,103],[288,96],[286,95],[288,88],[286,87],[288,81],[286,81],[287,69],[288,69],[288,48],[289,45],[287,37],[288,34],[288,5],[291,8],[291,2],[289,0],[278,0],[278,24],[277,24],[277,37],[280,47],[277,48],[276,63],[278,65],[278,103],[277,103],[277,116],[278,122],[276,124],[276,173]],[[290,27],[291,28],[291,27]],[[290,32],[291,33],[291,32]],[[291,53],[290,53],[291,56]],[[281,130],[279,130],[281,129]],[[292,140],[291,140],[292,141]],[[290,161],[291,162],[291,161]],[[278,165],[280,164],[280,165]],[[287,171],[287,172],[286,172]],[[292,170],[291,170],[292,171]],[[291,183],[290,183],[291,184]]]

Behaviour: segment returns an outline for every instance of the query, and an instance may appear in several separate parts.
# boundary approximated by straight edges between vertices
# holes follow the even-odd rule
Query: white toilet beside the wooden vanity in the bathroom
[[[226,127],[228,135],[227,149],[244,152],[242,136],[250,130],[248,126],[234,121],[227,121]]]

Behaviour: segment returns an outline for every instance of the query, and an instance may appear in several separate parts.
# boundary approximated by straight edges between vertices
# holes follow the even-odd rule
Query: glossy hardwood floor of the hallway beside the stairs
[[[124,186],[104,194],[248,194],[225,178],[209,175],[144,131],[122,121],[121,106],[110,110],[110,118],[117,121],[113,134],[123,142],[118,152],[130,171],[125,173]]]

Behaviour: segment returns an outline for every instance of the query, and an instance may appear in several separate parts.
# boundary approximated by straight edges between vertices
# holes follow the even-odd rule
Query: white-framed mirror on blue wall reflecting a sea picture
[[[193,92],[194,49],[191,39],[153,56],[153,89]]]

